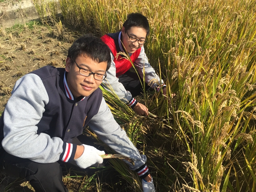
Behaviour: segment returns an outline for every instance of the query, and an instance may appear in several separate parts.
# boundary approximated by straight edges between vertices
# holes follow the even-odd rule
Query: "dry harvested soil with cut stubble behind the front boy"
[[[81,34],[64,26],[30,22],[0,29],[0,112],[21,76],[45,65],[64,67],[67,51]]]

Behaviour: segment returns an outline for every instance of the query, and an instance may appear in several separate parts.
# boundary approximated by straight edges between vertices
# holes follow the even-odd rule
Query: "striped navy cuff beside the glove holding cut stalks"
[[[60,155],[60,160],[63,162],[71,162],[74,160],[76,154],[77,145],[73,145],[72,143],[63,143],[63,151]]]

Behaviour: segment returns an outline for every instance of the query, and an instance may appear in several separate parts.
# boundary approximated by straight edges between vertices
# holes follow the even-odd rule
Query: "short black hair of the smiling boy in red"
[[[149,34],[149,23],[147,17],[140,13],[131,13],[127,16],[125,23],[123,24],[125,31],[131,29],[131,27],[136,26],[145,29],[147,36]]]

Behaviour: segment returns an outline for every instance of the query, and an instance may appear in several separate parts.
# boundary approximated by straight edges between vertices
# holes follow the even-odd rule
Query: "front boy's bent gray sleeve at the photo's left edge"
[[[48,102],[47,91],[39,76],[27,74],[16,82],[3,113],[2,145],[6,152],[38,163],[53,163],[64,156],[67,143],[61,138],[37,133],[36,125]],[[76,150],[76,146],[73,149]]]

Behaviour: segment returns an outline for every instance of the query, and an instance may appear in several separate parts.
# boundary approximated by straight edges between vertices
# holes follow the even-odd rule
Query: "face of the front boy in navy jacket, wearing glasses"
[[[76,58],[76,63],[79,67],[90,70],[93,73],[105,74],[107,69],[107,61],[98,63],[93,61],[90,57],[86,55],[80,55]],[[65,70],[67,73],[67,84],[70,88],[71,93],[74,97],[79,96],[89,96],[93,91],[95,91],[102,81],[94,79],[93,74],[90,76],[82,76],[79,73],[79,68],[76,63],[71,63],[70,58],[66,59]]]

